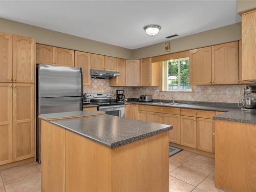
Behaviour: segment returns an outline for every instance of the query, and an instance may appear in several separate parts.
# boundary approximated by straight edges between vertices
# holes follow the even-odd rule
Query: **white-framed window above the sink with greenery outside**
[[[191,91],[189,58],[164,61],[162,69],[162,91]]]

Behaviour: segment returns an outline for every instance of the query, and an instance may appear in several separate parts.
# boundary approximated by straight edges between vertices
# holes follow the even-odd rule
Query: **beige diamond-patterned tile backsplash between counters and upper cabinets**
[[[126,98],[139,98],[140,95],[153,95],[153,99],[172,99],[188,101],[212,101],[236,103],[243,97],[244,84],[225,86],[195,86],[194,92],[160,92],[158,87],[110,87],[109,80],[91,79],[90,86],[83,86],[83,93],[110,92],[124,90]]]

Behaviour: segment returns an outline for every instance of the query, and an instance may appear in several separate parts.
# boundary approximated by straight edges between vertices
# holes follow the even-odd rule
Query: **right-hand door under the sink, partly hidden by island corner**
[[[161,123],[173,125],[173,129],[169,131],[169,141],[180,144],[180,116],[162,114]]]

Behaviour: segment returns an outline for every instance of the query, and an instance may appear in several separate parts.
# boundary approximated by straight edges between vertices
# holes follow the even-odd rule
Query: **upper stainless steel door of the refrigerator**
[[[81,68],[38,66],[38,97],[82,96]]]

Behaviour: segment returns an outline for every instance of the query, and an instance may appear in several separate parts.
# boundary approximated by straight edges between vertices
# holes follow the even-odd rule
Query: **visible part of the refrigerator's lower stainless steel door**
[[[38,99],[38,114],[82,110],[82,97],[52,97]]]

